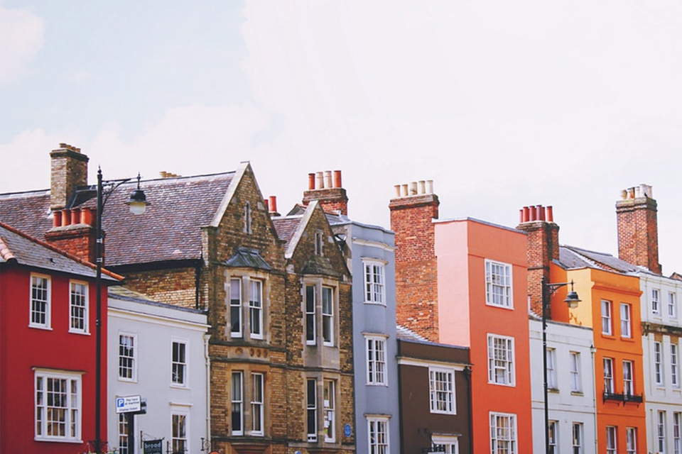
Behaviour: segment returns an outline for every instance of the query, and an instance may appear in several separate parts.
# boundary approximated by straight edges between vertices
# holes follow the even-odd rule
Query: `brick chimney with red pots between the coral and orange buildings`
[[[531,311],[542,316],[542,278],[549,280],[549,264],[559,259],[559,226],[551,206],[524,206],[517,229],[528,233],[528,294]],[[546,314],[551,319],[551,307]]]

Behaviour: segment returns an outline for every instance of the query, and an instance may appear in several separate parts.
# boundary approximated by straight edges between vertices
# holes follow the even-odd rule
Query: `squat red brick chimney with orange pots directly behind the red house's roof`
[[[94,212],[89,208],[64,209],[53,211],[53,216],[53,228],[45,232],[45,240],[77,258],[94,263],[97,245]]]

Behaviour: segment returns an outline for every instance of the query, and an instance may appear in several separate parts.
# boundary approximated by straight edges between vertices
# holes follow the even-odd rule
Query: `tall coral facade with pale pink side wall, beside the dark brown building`
[[[439,342],[470,347],[474,452],[491,451],[491,414],[514,415],[516,453],[532,453],[526,235],[465,219],[435,223]],[[510,306],[487,304],[486,263],[511,271]],[[512,384],[489,380],[489,336],[511,339]]]

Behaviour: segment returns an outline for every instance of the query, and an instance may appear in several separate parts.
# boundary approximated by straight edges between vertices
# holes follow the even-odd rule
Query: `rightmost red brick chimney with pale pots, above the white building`
[[[658,210],[651,194],[651,186],[640,184],[622,191],[616,201],[618,257],[660,275]]]

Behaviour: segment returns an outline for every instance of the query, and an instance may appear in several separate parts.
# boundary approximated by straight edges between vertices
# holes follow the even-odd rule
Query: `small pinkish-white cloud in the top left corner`
[[[43,47],[43,19],[28,9],[0,6],[0,84],[26,72],[28,62]]]

